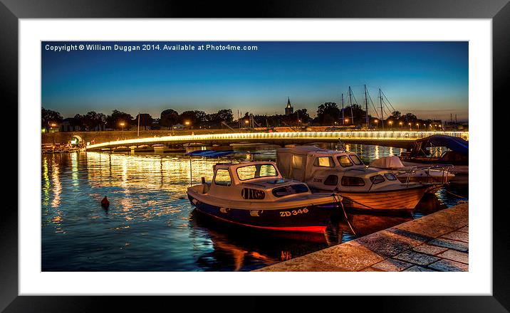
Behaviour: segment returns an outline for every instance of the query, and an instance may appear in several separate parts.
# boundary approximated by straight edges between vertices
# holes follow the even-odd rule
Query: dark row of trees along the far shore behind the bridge
[[[378,117],[372,117],[371,115],[368,115],[368,117],[371,126],[373,126]],[[120,110],[113,110],[110,115],[90,111],[85,115],[77,114],[66,119],[66,121],[73,129],[91,131],[130,129],[130,127],[137,126],[138,122],[140,122],[140,129],[147,129],[147,127],[149,129],[172,129],[177,124],[192,129],[224,128],[226,127],[225,124],[232,128],[248,127],[249,125],[254,127],[334,126],[340,124],[361,126],[365,124],[365,118],[365,110],[360,105],[353,104],[341,109],[335,102],[326,102],[318,106],[315,118],[311,118],[306,109],[296,110],[291,115],[252,115],[250,112],[244,112],[244,115],[236,120],[234,120],[231,109],[219,110],[214,113],[206,113],[201,110],[187,110],[179,113],[176,110],[167,109],[161,112],[159,118],[141,113],[140,121],[138,115],[133,117],[129,113]],[[49,130],[52,124],[60,125],[63,120],[64,118],[59,112],[42,108],[41,126],[46,130]],[[392,124],[392,127],[395,128],[399,126],[407,127],[409,123],[421,125],[431,122],[431,120],[420,120],[412,113],[402,115],[398,111],[392,112],[383,122],[387,125],[389,121],[395,123]],[[402,124],[399,125],[399,123]]]

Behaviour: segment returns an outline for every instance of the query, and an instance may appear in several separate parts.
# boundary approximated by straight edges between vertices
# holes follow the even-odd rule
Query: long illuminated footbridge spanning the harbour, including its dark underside
[[[87,150],[109,150],[115,147],[132,147],[142,144],[309,144],[311,142],[338,142],[378,144],[387,147],[409,148],[416,139],[432,134],[445,134],[469,140],[469,132],[244,132],[231,134],[191,134],[183,136],[146,137],[92,144]]]

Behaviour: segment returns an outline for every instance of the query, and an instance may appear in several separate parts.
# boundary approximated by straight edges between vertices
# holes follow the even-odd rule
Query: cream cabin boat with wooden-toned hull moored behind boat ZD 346
[[[301,146],[276,150],[283,177],[297,179],[311,189],[337,192],[349,208],[412,211],[435,184],[400,182],[390,170],[365,166],[353,152]]]

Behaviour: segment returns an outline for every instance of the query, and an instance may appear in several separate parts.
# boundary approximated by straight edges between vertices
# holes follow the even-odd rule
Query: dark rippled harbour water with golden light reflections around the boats
[[[368,164],[400,155],[390,147],[348,144]],[[194,148],[199,149],[199,148]],[[254,159],[276,159],[274,147]],[[42,154],[41,233],[43,271],[255,270],[356,238],[341,216],[325,235],[275,235],[229,228],[194,211],[187,200],[189,157],[183,154]],[[193,181],[212,179],[224,159],[193,159]],[[467,196],[467,185],[448,186]],[[110,200],[105,211],[104,196]],[[413,216],[350,213],[359,235],[395,226],[461,200],[440,189]]]

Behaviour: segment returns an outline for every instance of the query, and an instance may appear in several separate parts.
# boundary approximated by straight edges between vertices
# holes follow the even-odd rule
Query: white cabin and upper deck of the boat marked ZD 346
[[[270,202],[311,191],[306,184],[283,179],[272,161],[250,161],[215,164],[212,181],[203,181],[199,193],[229,200]]]

